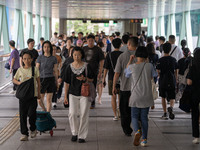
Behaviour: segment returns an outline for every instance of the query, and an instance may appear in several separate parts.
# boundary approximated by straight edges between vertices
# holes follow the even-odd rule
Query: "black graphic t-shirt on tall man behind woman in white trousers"
[[[86,62],[90,64],[94,74],[97,75],[99,69],[99,62],[104,59],[103,51],[97,46],[94,46],[93,48],[85,46],[83,50],[85,52]]]

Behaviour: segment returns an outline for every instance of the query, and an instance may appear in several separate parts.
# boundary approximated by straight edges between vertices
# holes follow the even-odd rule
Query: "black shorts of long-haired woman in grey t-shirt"
[[[53,93],[56,91],[56,83],[54,77],[49,78],[40,78],[41,83],[41,94],[44,93]]]

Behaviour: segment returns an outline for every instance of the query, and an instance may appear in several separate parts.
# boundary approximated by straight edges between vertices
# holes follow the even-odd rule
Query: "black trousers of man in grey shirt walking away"
[[[131,134],[131,107],[129,107],[130,91],[120,91],[119,109],[121,114],[121,126],[125,134]]]

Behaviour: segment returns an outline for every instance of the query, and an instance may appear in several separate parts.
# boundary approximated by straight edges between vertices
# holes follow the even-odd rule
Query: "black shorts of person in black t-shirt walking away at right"
[[[175,88],[172,89],[159,88],[159,96],[162,98],[167,98],[169,100],[175,99],[176,97]]]

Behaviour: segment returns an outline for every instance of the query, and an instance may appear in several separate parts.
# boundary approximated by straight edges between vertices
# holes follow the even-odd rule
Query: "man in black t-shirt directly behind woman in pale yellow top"
[[[23,53],[24,53],[24,52],[29,51],[29,52],[32,54],[32,56],[33,56],[33,61],[32,61],[32,64],[31,64],[32,66],[35,66],[36,59],[37,59],[37,57],[39,56],[38,51],[37,51],[36,49],[33,48],[34,45],[35,45],[34,39],[29,38],[29,39],[27,40],[27,45],[28,45],[28,48],[23,49],[23,50],[21,51],[21,53],[20,53],[20,66],[21,66],[21,67],[23,66],[23,63],[22,63],[22,56],[23,56]],[[43,52],[42,52],[42,53],[43,53]]]

